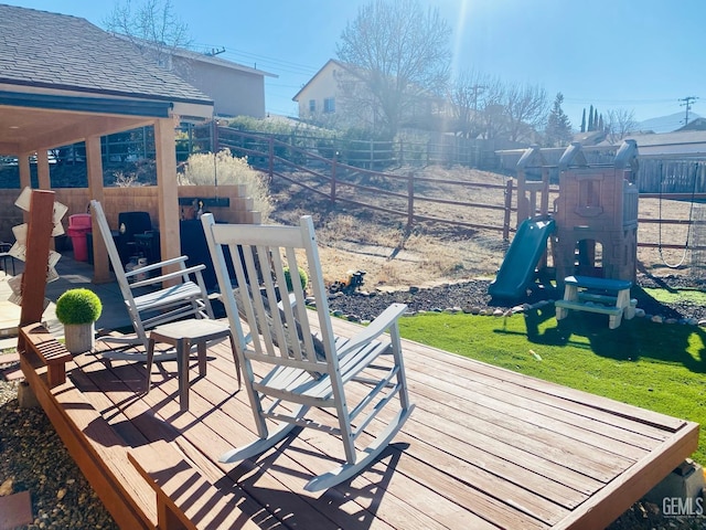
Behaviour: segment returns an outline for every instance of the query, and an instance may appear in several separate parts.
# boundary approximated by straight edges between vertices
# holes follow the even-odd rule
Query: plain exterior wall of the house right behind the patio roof
[[[216,116],[265,117],[265,78],[263,75],[237,71],[172,56],[172,68],[214,102]]]

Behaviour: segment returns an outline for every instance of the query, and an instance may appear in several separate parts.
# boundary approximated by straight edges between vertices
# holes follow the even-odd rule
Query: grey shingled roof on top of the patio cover
[[[0,4],[4,85],[213,105],[208,96],[85,19]]]

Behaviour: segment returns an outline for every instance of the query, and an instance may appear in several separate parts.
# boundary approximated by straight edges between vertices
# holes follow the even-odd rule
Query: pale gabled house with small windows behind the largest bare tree
[[[299,105],[299,118],[339,127],[375,130],[382,112],[356,67],[330,59],[292,97]],[[435,129],[436,121],[450,116],[450,107],[434,96],[417,97],[405,110],[400,125]]]

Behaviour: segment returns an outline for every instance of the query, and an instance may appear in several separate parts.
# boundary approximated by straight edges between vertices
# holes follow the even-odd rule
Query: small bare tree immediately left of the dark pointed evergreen
[[[547,119],[547,93],[538,85],[510,85],[504,97],[507,137],[512,141],[532,135]]]

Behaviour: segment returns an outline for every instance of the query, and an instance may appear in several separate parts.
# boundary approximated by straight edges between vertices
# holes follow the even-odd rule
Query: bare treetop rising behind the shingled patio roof
[[[140,53],[162,66],[173,49],[192,43],[189,26],[176,17],[170,0],[143,0],[139,4],[118,1],[103,23],[108,31],[127,36]]]

